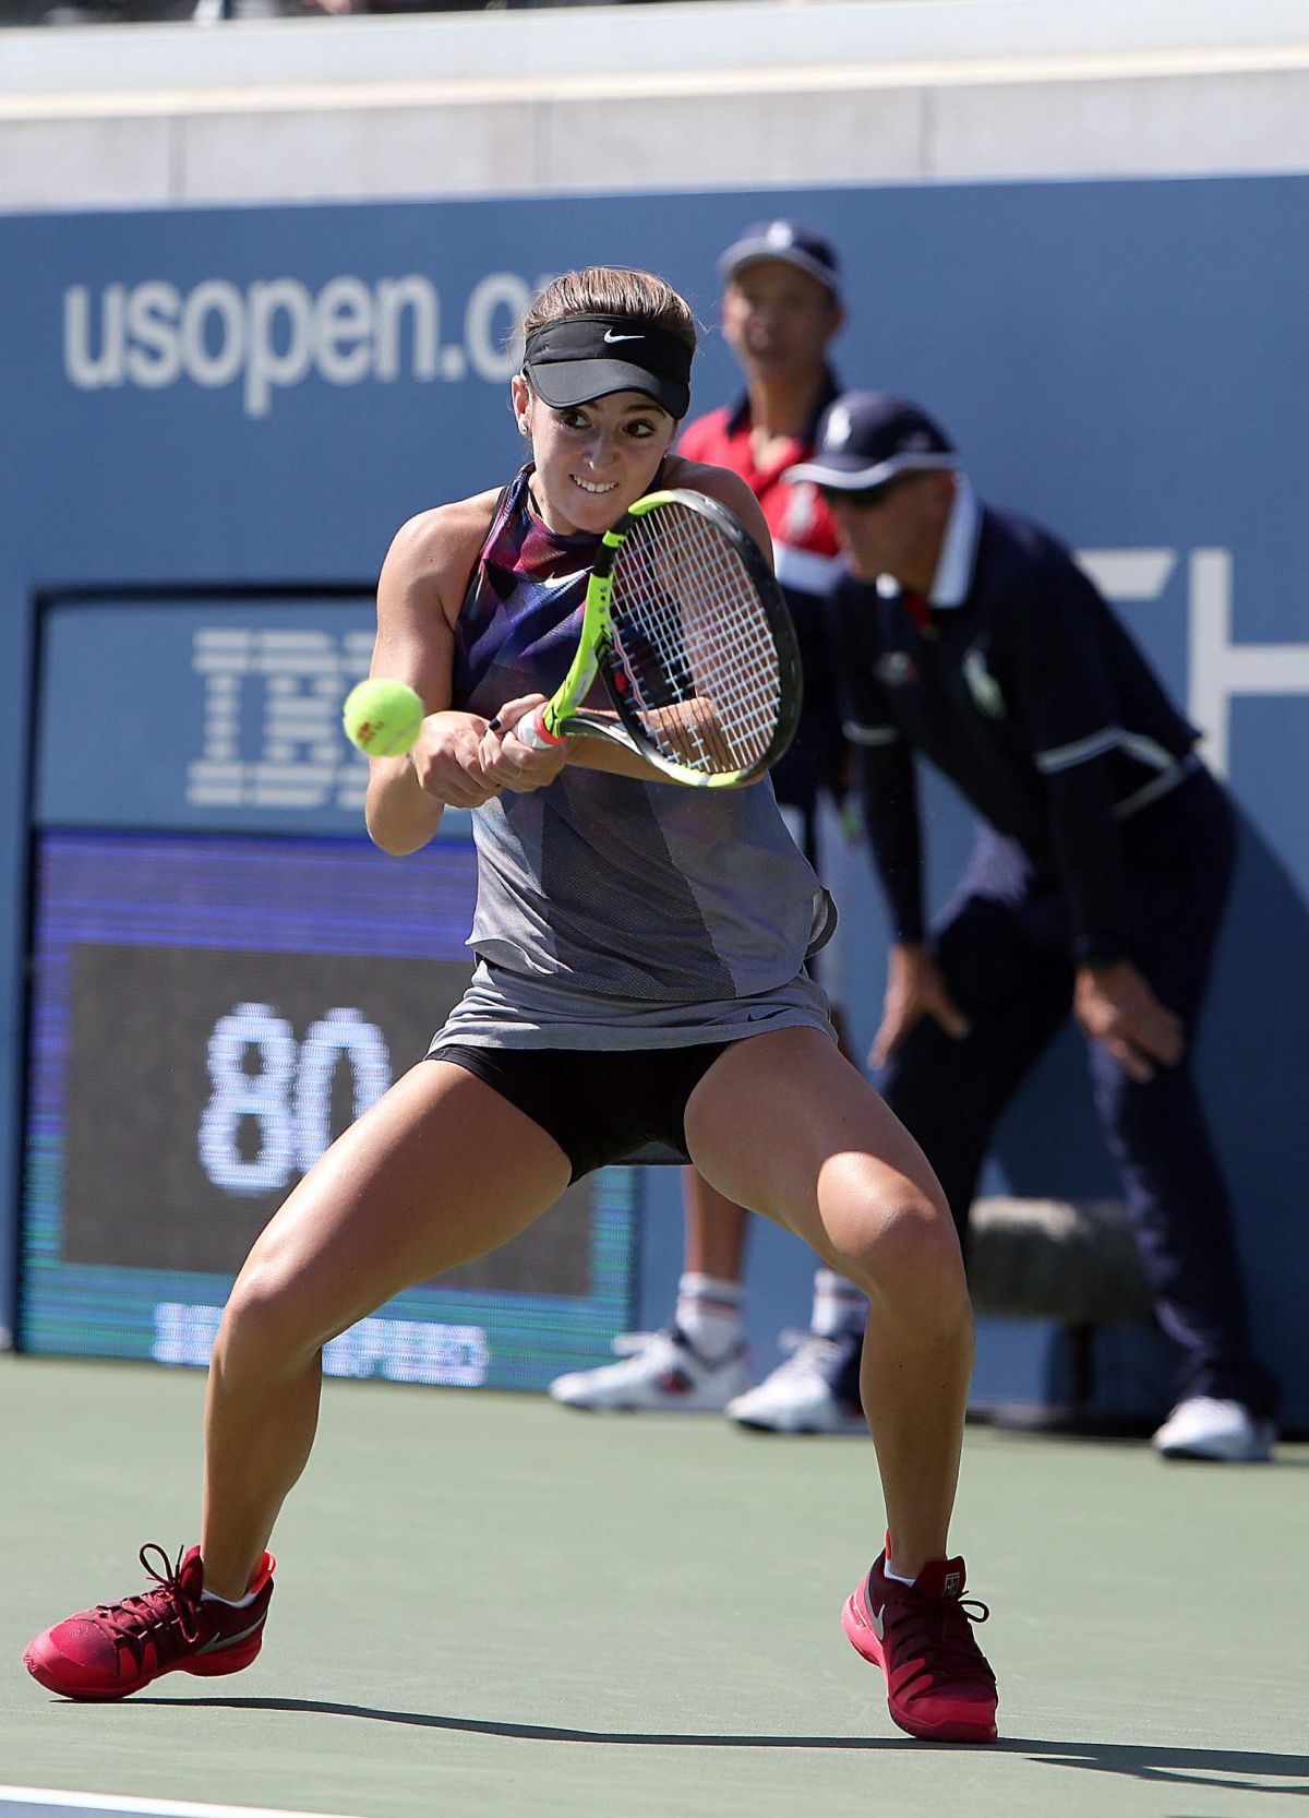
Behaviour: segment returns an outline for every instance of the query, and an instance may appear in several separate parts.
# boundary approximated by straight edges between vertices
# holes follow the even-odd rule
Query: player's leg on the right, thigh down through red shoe
[[[973,1313],[945,1198],[922,1151],[816,1029],[733,1044],[691,1094],[694,1162],[789,1225],[869,1296],[864,1405],[889,1543],[842,1613],[885,1674],[893,1722],[933,1742],[994,1742],[996,1683],[949,1558],[973,1371]]]

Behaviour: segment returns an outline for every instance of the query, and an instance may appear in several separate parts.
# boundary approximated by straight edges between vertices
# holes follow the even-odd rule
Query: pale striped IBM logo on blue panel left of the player
[[[336,807],[360,813],[367,758],[347,742],[342,700],[367,674],[371,631],[196,631],[205,678],[202,756],[187,765],[195,807]],[[262,716],[258,756],[253,714]],[[244,736],[242,736],[244,734]]]

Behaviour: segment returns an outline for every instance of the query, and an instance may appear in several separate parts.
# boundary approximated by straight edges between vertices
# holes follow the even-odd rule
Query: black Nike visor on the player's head
[[[640,316],[562,316],[527,336],[524,371],[556,411],[644,391],[678,422],[691,407],[691,347]]]

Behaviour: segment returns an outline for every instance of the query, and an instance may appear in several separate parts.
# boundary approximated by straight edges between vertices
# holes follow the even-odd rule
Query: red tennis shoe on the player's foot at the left
[[[156,1554],[155,1571],[147,1554]],[[120,1603],[96,1603],[56,1623],[29,1643],[24,1665],[64,1698],[125,1698],[162,1673],[240,1673],[264,1643],[264,1618],[273,1596],[275,1558],[265,1553],[244,1605],[204,1602],[200,1547],[169,1565],[164,1547],[145,1545],[140,1562],[153,1591]]]

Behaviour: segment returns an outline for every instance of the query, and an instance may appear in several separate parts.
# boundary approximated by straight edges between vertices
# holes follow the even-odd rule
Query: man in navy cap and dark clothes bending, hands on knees
[[[1164,1456],[1265,1460],[1274,1385],[1253,1360],[1218,1156],[1189,1065],[1233,867],[1198,733],[1067,549],[973,494],[924,411],[847,393],[791,469],[836,516],[845,731],[893,920],[871,1060],[964,1234],[991,1133],[1069,1011],[1182,1398]],[[982,816],[924,925],[913,753]]]

